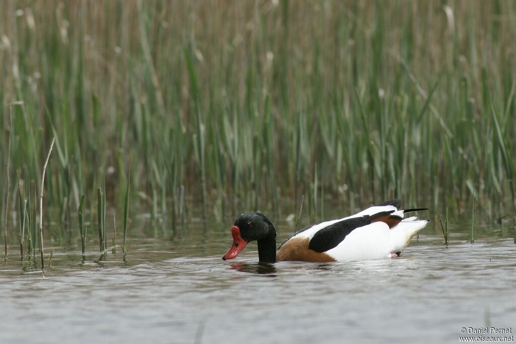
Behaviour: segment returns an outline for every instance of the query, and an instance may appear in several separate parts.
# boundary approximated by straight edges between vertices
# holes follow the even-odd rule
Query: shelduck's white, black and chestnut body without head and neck
[[[311,225],[285,240],[277,252],[280,260],[335,261],[390,256],[403,250],[427,220],[404,219],[400,200],[390,200],[357,214]]]

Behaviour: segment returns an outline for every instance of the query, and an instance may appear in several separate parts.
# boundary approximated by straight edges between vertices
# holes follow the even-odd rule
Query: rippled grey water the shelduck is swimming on
[[[255,244],[222,261],[229,229],[197,227],[132,238],[125,260],[56,249],[44,273],[11,248],[0,343],[457,343],[462,327],[516,330],[516,245],[499,233],[472,245],[464,230],[445,248],[427,228],[394,259],[260,265]]]

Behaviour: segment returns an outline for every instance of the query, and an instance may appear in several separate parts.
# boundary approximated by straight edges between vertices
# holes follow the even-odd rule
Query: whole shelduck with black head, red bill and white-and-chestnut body
[[[404,219],[398,210],[401,200],[384,202],[358,214],[303,228],[283,242],[276,251],[276,230],[261,212],[240,215],[231,228],[233,245],[222,259],[233,259],[253,240],[258,242],[261,262],[276,261],[352,261],[396,257],[429,220],[417,216]]]

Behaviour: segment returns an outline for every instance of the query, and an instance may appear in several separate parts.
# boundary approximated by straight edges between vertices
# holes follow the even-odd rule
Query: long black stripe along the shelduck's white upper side
[[[371,224],[373,223],[373,220],[385,215],[390,215],[393,212],[394,210],[382,211],[372,216],[365,215],[333,223],[315,233],[312,240],[310,240],[308,248],[315,252],[326,252],[331,250],[336,247],[336,245],[340,244],[353,230]]]

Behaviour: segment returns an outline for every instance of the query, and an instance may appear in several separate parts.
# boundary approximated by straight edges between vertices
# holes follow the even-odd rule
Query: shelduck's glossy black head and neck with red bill
[[[276,230],[261,212],[240,215],[231,228],[233,245],[222,259],[233,259],[253,240],[258,241],[260,261],[276,261]]]

